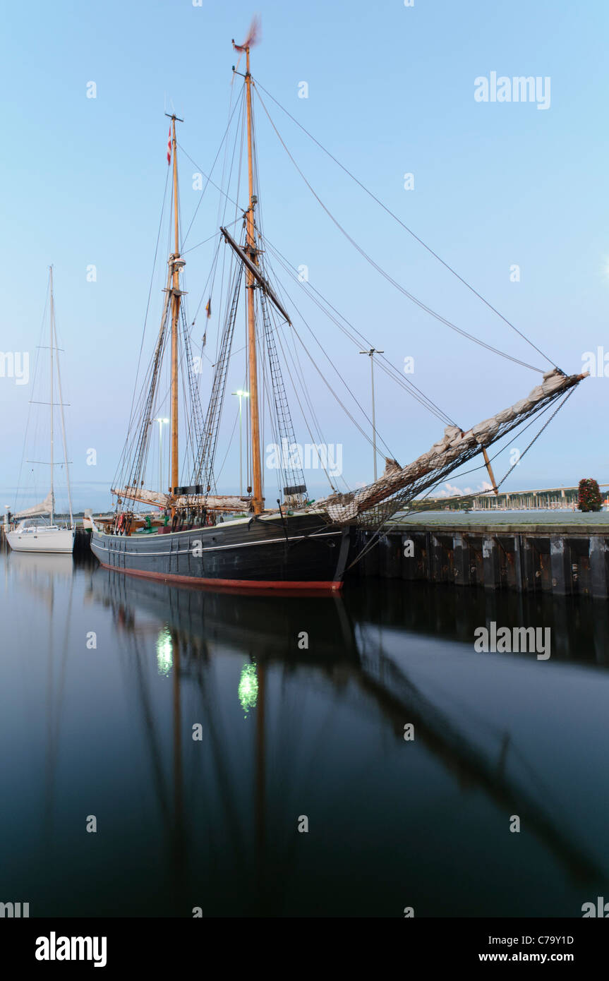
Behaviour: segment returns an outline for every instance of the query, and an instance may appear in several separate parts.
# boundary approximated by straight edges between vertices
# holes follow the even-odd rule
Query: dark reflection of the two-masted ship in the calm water
[[[290,747],[294,750],[284,766],[284,778],[289,782],[290,777],[295,779],[291,768],[295,757],[317,745],[315,772],[319,776],[324,758],[320,760],[316,741],[330,741],[332,719],[330,716],[320,725],[323,733],[307,729],[298,742],[289,715],[293,699],[288,699],[287,709],[278,704],[284,697],[283,681],[279,681],[279,693],[275,686],[269,689],[273,669],[278,669],[283,679],[305,669],[318,681],[330,682],[336,697],[348,690],[356,710],[368,710],[371,704],[381,710],[396,740],[403,741],[405,723],[413,723],[418,742],[456,779],[461,792],[482,793],[506,815],[506,821],[509,815],[518,814],[573,882],[591,882],[602,876],[599,863],[578,844],[578,836],[569,826],[561,806],[552,801],[543,780],[518,747],[518,740],[505,729],[499,729],[492,718],[484,717],[483,705],[478,719],[470,718],[467,726],[463,726],[455,721],[450,710],[434,704],[432,697],[424,694],[409,677],[403,663],[386,652],[377,626],[368,619],[356,594],[347,597],[346,603],[339,596],[318,597],[306,603],[286,597],[278,602],[261,596],[168,588],[101,568],[92,575],[91,585],[93,600],[112,609],[125,642],[129,687],[140,701],[161,807],[172,831],[176,888],[187,881],[191,865],[186,861],[186,852],[192,845],[187,828],[191,807],[184,798],[190,797],[194,778],[197,781],[200,778],[196,763],[191,766],[187,762],[184,766],[184,758],[191,748],[186,745],[190,740],[184,736],[189,730],[190,716],[182,711],[182,702],[190,690],[200,699],[199,712],[193,718],[203,722],[203,739],[211,747],[215,764],[212,778],[215,787],[207,783],[204,796],[211,800],[218,795],[223,805],[223,824],[225,832],[229,830],[229,850],[235,860],[240,856],[245,868],[247,855],[255,855],[252,860],[257,871],[258,915],[274,915],[273,910],[280,908],[284,888],[281,878],[298,836],[288,838],[284,847],[279,845],[275,811],[285,806],[288,788],[286,785],[285,794],[279,793],[279,797],[269,794],[269,779],[272,775],[277,777],[276,772],[271,772],[277,762],[273,754],[278,746],[283,752],[291,753]],[[308,649],[298,645],[303,632],[309,638]],[[155,714],[152,703],[151,658],[145,649],[146,638],[156,645],[155,673],[173,676],[173,802],[164,775],[167,765],[164,768],[161,738],[156,731],[160,716]],[[241,662],[246,660],[238,697],[246,713],[250,707],[256,708],[256,732],[253,745],[250,744],[254,757],[255,841],[249,849],[242,824],[244,808],[248,813],[252,794],[246,793],[243,798],[243,788],[234,786],[233,754],[229,745],[234,734],[223,728],[221,719],[222,698],[214,671],[217,652],[234,655]],[[275,697],[270,698],[271,693]],[[208,773],[208,781],[209,777]],[[365,778],[363,772],[362,779]],[[280,859],[279,847],[283,848]]]

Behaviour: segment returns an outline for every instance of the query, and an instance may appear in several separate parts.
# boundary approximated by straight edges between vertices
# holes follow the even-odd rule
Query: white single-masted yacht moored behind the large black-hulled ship
[[[72,552],[75,541],[75,524],[72,513],[72,494],[70,490],[70,472],[68,469],[68,451],[66,445],[66,422],[64,419],[64,400],[62,397],[61,373],[59,359],[54,357],[58,351],[57,334],[55,330],[55,305],[53,297],[53,267],[49,267],[50,294],[50,323],[49,323],[49,354],[50,354],[50,401],[51,410],[51,489],[45,499],[32,507],[26,507],[12,516],[12,531],[7,533],[7,541],[15,551],[28,552]],[[55,376],[57,375],[57,390],[59,393],[59,408],[64,450],[64,464],[68,483],[68,504],[70,508],[70,525],[60,526],[55,523],[55,412],[54,392]],[[48,517],[47,517],[48,515]]]

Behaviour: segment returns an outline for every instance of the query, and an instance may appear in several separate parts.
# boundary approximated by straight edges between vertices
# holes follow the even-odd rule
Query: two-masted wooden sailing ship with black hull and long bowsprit
[[[191,325],[185,315],[182,278],[183,256],[187,250],[183,246],[183,234],[180,235],[176,135],[176,125],[182,121],[172,113],[167,114],[171,119],[168,164],[172,177],[172,237],[160,328],[143,384],[137,397],[133,398],[127,441],[111,489],[116,497],[113,517],[105,522],[94,521],[91,548],[106,567],[161,581],[238,590],[336,591],[341,588],[348,568],[361,557],[363,550],[370,547],[369,537],[369,542],[362,548],[359,529],[374,530],[374,542],[398,512],[408,509],[415,498],[429,493],[474,457],[482,458],[490,486],[496,491],[498,485],[488,448],[512,431],[528,428],[532,417],[544,415],[554,402],[562,404],[584,375],[567,375],[550,362],[547,370],[540,370],[539,384],[527,397],[471,428],[463,429],[383,359],[382,351],[375,350],[367,342],[367,349],[360,353],[371,357],[373,386],[376,362],[393,381],[431,408],[445,424],[444,431],[430,450],[405,466],[392,456],[385,456],[383,472],[377,476],[378,433],[373,387],[374,480],[356,489],[339,490],[326,459],[321,466],[329,478],[330,492],[312,499],[305,481],[306,461],[298,449],[301,444],[295,439],[284,370],[287,365],[287,376],[290,382],[293,381],[292,376],[299,371],[294,350],[296,342],[302,341],[294,328],[289,304],[276,285],[270,267],[269,254],[279,256],[280,261],[280,253],[264,232],[259,206],[253,93],[263,108],[265,104],[250,71],[250,53],[256,36],[257,26],[253,25],[243,44],[232,42],[239,58],[232,69],[233,79],[243,79],[240,97],[235,101],[232,113],[239,110],[236,128],[241,126],[243,143],[240,151],[233,149],[229,163],[231,168],[238,167],[240,171],[242,152],[243,169],[246,161],[247,196],[241,204],[232,202],[235,220],[232,223],[223,220],[216,229],[218,252],[210,281],[214,284],[221,279],[224,293],[219,304],[218,340],[207,410],[204,413],[202,409]],[[245,71],[240,73],[242,61]],[[225,160],[227,158],[228,144]],[[228,195],[226,197],[228,200]],[[223,257],[219,259],[221,248]],[[215,299],[212,303],[213,295],[210,287],[206,306],[208,320],[212,305],[218,305]],[[412,294],[406,295],[424,306]],[[424,309],[448,327],[454,327],[428,307],[424,306]],[[237,325],[243,320],[245,342],[241,348],[238,341],[237,344],[233,341],[235,337],[239,338]],[[475,336],[456,327],[455,330],[482,343],[483,347],[501,353]],[[204,343],[206,336],[207,328]],[[293,347],[289,346],[288,336],[296,337]],[[362,335],[356,339],[358,337]],[[237,494],[223,492],[220,485],[226,461],[221,421],[226,407],[229,369],[242,349],[245,354],[241,376],[243,387],[232,394],[239,399],[239,467],[242,469],[245,455],[247,483],[245,488],[241,483]],[[511,361],[518,360],[505,356]],[[301,410],[301,402],[306,403],[305,408],[309,410],[312,422],[308,432],[313,438],[320,427],[306,387],[298,401]],[[274,445],[278,447],[274,474],[277,490],[274,489],[273,498],[270,479],[265,482],[262,459],[265,412],[268,418],[266,432],[271,431]],[[168,418],[164,418],[165,415]],[[243,423],[244,453],[241,445]],[[169,427],[169,439],[165,440],[163,455],[165,424]],[[543,428],[545,425],[547,421]],[[154,465],[157,445],[158,478]],[[155,490],[157,480],[158,489]],[[146,511],[153,513],[146,514]]]

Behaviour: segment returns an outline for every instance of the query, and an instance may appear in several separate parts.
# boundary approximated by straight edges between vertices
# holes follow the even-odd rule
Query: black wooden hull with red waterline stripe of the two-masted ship
[[[333,592],[342,586],[349,532],[314,513],[273,515],[169,534],[95,527],[91,549],[110,569],[189,586]]]

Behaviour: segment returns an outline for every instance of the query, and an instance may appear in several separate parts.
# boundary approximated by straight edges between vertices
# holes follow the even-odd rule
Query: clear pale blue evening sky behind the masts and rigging
[[[230,39],[244,37],[256,12],[262,41],[252,54],[253,75],[304,127],[565,371],[581,371],[586,351],[600,346],[609,354],[606,4],[13,5],[3,15],[0,66],[0,351],[29,351],[33,358],[53,263],[78,508],[109,504],[106,489],[126,435],[167,177],[164,112],[173,105],[183,117],[178,140],[207,170],[228,121],[235,62]],[[475,78],[493,71],[550,77],[549,108],[477,102]],[[89,81],[96,83],[95,99],[86,98]],[[308,83],[307,99],[298,98],[301,81]],[[233,97],[237,91],[235,84]],[[277,108],[272,115],[336,219],[395,280],[463,329],[549,367]],[[414,357],[409,377],[464,428],[537,384],[537,374],[455,336],[381,279],[312,197],[261,108],[257,121],[269,239],[294,267],[309,267],[311,283],[393,364],[401,368],[406,356]],[[186,227],[198,192],[191,186],[195,168],[183,155],[178,162]],[[414,174],[413,190],[404,189],[406,173]],[[217,231],[217,214],[218,195],[210,195],[187,246]],[[190,320],[212,256],[211,246],[186,255]],[[95,283],[86,279],[91,264]],[[510,282],[514,264],[519,283]],[[160,281],[153,284],[147,351],[160,287]],[[296,297],[293,286],[288,291]],[[302,310],[369,411],[368,359],[316,308],[303,304]],[[205,404],[210,378],[204,372]],[[368,442],[315,372],[309,382],[327,439],[343,446],[345,480],[350,486],[369,481]],[[582,477],[609,481],[608,389],[607,378],[586,380],[505,487],[572,485]],[[378,428],[400,463],[441,435],[442,425],[403,389],[380,380],[377,396]],[[0,378],[2,503],[16,499],[32,397],[29,385]],[[228,436],[233,415],[231,405]],[[297,433],[297,439],[308,436]],[[95,466],[86,463],[90,448]],[[502,475],[508,466],[506,451],[495,472]],[[479,487],[483,476],[451,483]],[[39,490],[44,483],[39,480]],[[323,490],[317,473],[309,483],[314,492]],[[237,485],[233,440],[223,488]]]

